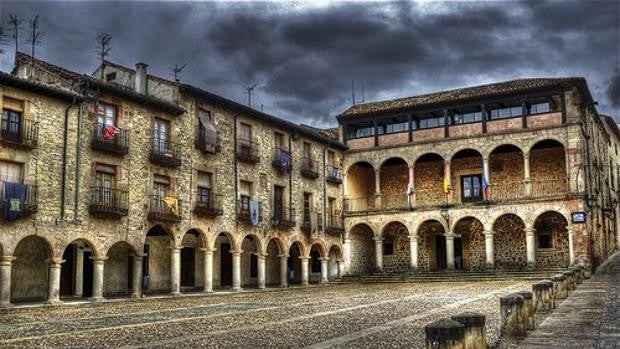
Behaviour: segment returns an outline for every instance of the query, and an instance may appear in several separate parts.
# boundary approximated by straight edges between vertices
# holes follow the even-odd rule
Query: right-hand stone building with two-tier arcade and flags
[[[617,134],[583,78],[360,104],[338,120],[346,272],[555,269],[617,247]]]

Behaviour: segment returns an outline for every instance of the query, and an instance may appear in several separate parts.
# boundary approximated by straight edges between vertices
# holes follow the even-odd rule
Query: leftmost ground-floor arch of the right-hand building
[[[360,223],[351,228],[349,232],[349,238],[351,239],[351,274],[365,275],[372,273],[374,270],[376,262],[373,237],[372,229],[366,224]]]

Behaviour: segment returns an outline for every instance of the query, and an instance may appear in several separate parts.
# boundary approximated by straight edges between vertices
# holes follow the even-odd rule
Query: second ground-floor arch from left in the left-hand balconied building
[[[60,266],[60,297],[91,297],[93,295],[94,259],[100,259],[95,245],[86,238],[68,243]]]

